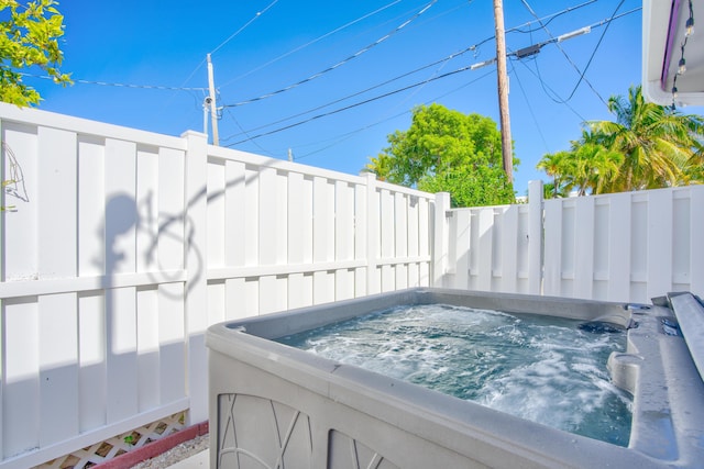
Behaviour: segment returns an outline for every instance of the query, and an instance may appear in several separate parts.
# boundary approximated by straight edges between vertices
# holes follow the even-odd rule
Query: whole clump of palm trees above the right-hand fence
[[[640,87],[612,97],[615,121],[592,121],[571,149],[538,163],[552,196],[623,192],[704,182],[704,119],[646,102]]]

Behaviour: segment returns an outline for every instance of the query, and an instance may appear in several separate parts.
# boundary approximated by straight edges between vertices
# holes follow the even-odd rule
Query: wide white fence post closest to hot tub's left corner
[[[208,420],[208,141],[205,134],[193,131],[182,137],[186,139],[186,389],[190,399],[188,424],[193,425]]]

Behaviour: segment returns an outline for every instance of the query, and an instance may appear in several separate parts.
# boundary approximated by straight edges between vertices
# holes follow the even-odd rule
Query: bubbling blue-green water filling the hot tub
[[[591,438],[627,446],[631,400],[606,361],[626,333],[442,304],[400,306],[279,342]]]

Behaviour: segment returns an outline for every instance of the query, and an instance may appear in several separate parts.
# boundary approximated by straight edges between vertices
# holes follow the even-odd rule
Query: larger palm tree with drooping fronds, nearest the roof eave
[[[587,122],[591,143],[624,156],[608,192],[680,186],[702,180],[704,120],[646,102],[640,86],[628,99],[612,97],[608,110],[616,122]]]

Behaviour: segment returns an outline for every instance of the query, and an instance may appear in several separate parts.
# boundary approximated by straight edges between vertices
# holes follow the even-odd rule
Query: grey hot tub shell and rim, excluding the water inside
[[[432,303],[629,327],[627,349],[608,359],[613,381],[634,395],[628,447],[272,340],[397,305]],[[210,466],[701,467],[704,309],[689,293],[656,303],[411,289],[215,325],[206,336]]]

